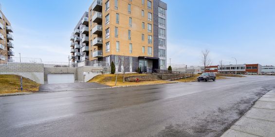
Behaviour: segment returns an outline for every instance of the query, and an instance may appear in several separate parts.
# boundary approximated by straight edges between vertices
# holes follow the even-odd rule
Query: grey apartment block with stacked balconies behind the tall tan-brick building
[[[71,35],[71,61],[79,63],[89,61],[89,13],[85,12]]]

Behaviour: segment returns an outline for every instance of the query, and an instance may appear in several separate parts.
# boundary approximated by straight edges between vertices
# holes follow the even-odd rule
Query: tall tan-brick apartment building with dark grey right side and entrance
[[[166,69],[166,9],[160,0],[93,0],[90,60],[114,62],[119,72]]]

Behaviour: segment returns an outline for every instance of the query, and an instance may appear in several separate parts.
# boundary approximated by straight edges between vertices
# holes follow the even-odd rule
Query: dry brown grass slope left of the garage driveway
[[[37,92],[40,84],[27,79],[23,79],[22,92]],[[20,76],[18,75],[0,75],[0,94],[17,93],[20,91]]]

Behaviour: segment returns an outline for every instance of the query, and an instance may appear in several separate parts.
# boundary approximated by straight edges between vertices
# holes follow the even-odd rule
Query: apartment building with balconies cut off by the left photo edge
[[[4,16],[0,5],[0,60],[6,60],[5,57],[14,56],[14,51],[12,51],[14,48],[12,33],[11,23]]]

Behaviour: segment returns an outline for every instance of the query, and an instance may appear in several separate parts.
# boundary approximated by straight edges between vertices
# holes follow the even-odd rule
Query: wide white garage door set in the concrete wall
[[[48,74],[48,84],[74,83],[74,74]]]

